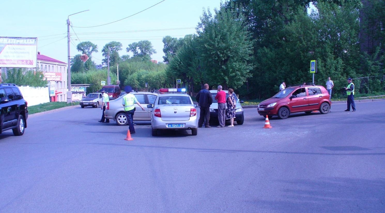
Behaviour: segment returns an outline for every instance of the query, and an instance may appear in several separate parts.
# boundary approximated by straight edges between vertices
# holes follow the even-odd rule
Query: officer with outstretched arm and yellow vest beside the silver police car
[[[130,94],[130,92],[132,91],[131,86],[125,86],[124,91],[126,91],[126,95],[123,96],[122,98],[123,100],[122,105],[124,106],[124,111],[126,111],[126,114],[127,114],[130,133],[135,134],[134,122],[132,121],[132,117],[134,116],[134,112],[135,112],[134,104],[138,104],[143,111],[144,111],[144,108],[142,107],[141,103],[139,103],[139,101],[136,99],[136,97],[133,94]]]

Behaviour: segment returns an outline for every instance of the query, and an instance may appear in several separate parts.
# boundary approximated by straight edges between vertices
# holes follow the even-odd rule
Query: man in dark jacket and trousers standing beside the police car
[[[199,107],[201,108],[198,127],[201,128],[204,122],[206,128],[211,128],[209,121],[210,105],[213,103],[213,96],[211,96],[208,84],[204,84],[203,87],[204,89],[201,89],[195,97],[196,101],[198,101]]]

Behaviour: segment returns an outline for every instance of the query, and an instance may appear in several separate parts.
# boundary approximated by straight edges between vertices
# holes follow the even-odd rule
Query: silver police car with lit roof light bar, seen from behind
[[[157,136],[164,130],[191,130],[192,135],[198,134],[197,105],[186,94],[186,89],[159,89],[154,104],[148,104],[151,109],[152,136]]]

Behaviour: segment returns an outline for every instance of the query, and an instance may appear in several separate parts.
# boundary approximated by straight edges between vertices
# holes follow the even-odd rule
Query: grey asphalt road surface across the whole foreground
[[[75,106],[0,135],[0,212],[385,212],[385,101],[151,136]]]

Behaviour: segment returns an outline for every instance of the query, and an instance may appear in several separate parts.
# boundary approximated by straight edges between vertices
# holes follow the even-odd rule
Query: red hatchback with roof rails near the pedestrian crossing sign
[[[320,111],[326,114],[330,111],[329,93],[323,86],[295,86],[278,92],[275,96],[262,101],[258,105],[261,116],[278,116],[286,119],[291,113]]]

